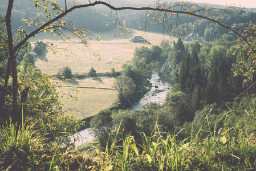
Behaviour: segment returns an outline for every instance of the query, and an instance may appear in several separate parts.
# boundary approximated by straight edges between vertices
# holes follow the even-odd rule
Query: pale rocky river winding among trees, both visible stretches
[[[141,109],[143,105],[151,102],[156,102],[160,104],[164,103],[166,94],[170,89],[170,84],[162,83],[157,72],[153,72],[151,79],[149,79],[149,82],[152,85],[151,89],[147,93],[145,93],[145,95],[138,102],[136,102],[129,108],[130,111]],[[79,141],[76,141],[76,146],[82,145],[83,143],[87,141],[92,141],[94,139],[94,136],[90,134],[90,128],[78,132],[78,136]],[[71,140],[73,140],[72,137]]]

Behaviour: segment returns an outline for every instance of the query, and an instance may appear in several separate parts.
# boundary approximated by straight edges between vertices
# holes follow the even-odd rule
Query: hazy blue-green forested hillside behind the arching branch
[[[57,1],[62,7],[65,9],[64,1]],[[70,7],[73,2],[68,1],[67,7]],[[79,3],[79,2],[78,2]],[[122,2],[127,6],[135,6],[140,7],[139,4],[131,4],[129,2]],[[153,4],[147,4],[148,6],[153,6]],[[184,10],[181,6],[177,5],[177,2],[166,3],[168,6],[173,6],[174,10]],[[187,3],[187,5],[192,5],[192,3]],[[113,2],[113,6],[121,6],[121,2]],[[24,8],[25,7],[25,8]],[[215,6],[214,6],[215,7]],[[218,15],[216,19],[224,23],[227,27],[234,27],[238,29],[243,29],[251,23],[256,23],[256,19],[254,17],[254,12],[252,10],[227,10],[221,11],[222,6],[216,6],[216,12],[222,13],[225,15],[225,19],[221,18],[221,15]],[[24,11],[26,9],[26,11]],[[97,9],[97,10],[96,10]],[[6,6],[0,6],[0,12],[6,13]],[[121,25],[126,28],[140,29],[144,26],[147,26],[147,31],[159,31],[166,32],[171,31],[172,34],[176,34],[180,36],[187,35],[193,33],[194,35],[205,36],[206,40],[213,41],[215,38],[219,39],[222,35],[230,35],[233,39],[236,39],[236,35],[218,25],[215,25],[213,22],[210,22],[205,19],[198,19],[196,17],[189,17],[189,15],[179,14],[178,20],[176,20],[176,16],[172,16],[170,14],[166,14],[166,20],[175,21],[170,28],[169,26],[164,26],[163,22],[157,21],[157,19],[148,19],[147,15],[150,13],[146,13],[144,11],[119,11],[116,13],[112,13],[109,9],[106,9],[103,6],[98,7],[90,7],[86,9],[78,9],[76,13],[71,13],[66,16],[67,21],[74,21],[76,23],[76,27],[78,28],[87,28],[92,31],[106,31],[112,28],[115,28],[116,25]],[[19,28],[19,26],[26,25],[25,22],[21,22],[23,18],[25,19],[39,19],[42,22],[45,22],[46,19],[39,15],[39,10],[35,8],[32,3],[24,2],[22,0],[18,0],[14,2],[14,10],[12,13],[13,21],[12,27],[14,30]],[[159,17],[163,17],[162,14]],[[180,21],[181,22],[180,22]],[[113,22],[115,21],[115,22]],[[109,25],[106,27],[106,23]],[[181,28],[182,27],[182,28]],[[31,31],[35,28],[35,26],[31,25],[29,27],[23,27],[27,31]],[[218,28],[218,29],[216,29]]]

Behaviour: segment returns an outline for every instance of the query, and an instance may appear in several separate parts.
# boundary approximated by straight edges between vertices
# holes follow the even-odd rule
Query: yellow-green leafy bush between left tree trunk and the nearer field
[[[63,95],[58,93],[58,82],[52,81],[52,76],[43,74],[28,63],[23,63],[18,71],[22,101],[19,108],[26,121],[34,124],[34,128],[42,133],[50,133],[47,135],[48,140],[62,137],[62,143],[66,141],[68,144],[67,135],[77,131],[82,123],[75,116],[61,113],[62,103],[59,98]]]

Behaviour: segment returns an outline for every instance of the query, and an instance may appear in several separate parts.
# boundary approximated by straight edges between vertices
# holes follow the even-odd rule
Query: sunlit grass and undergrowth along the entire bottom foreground
[[[210,111],[211,112],[211,111]],[[161,132],[157,124],[151,137],[140,132],[136,140],[131,133],[109,138],[104,151],[90,148],[63,148],[58,142],[47,142],[44,135],[22,123],[10,124],[0,130],[1,170],[256,170],[256,115],[252,111],[237,116],[229,111],[216,121],[222,128],[210,129],[208,116],[204,123],[209,130],[193,131],[186,139],[177,133]],[[227,124],[231,118],[232,124]],[[208,136],[200,137],[200,132]],[[136,143],[143,142],[141,144]],[[88,153],[90,151],[90,153]]]

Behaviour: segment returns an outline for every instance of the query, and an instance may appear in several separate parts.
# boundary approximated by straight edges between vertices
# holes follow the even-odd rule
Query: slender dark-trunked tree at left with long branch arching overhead
[[[65,1],[66,2],[66,1]],[[29,34],[26,34],[25,30],[21,27],[19,30],[17,30],[14,34],[13,30],[11,29],[11,14],[13,13],[13,3],[14,0],[8,1],[7,11],[5,15],[5,23],[6,23],[6,31],[7,31],[7,38],[8,38],[8,56],[7,56],[7,68],[5,72],[5,83],[3,84],[2,92],[1,92],[1,98],[0,98],[0,109],[1,111],[4,110],[4,105],[6,103],[6,96],[7,96],[7,88],[9,87],[9,79],[11,75],[12,82],[12,107],[11,107],[11,117],[13,117],[13,121],[21,122],[21,112],[18,111],[18,75],[17,75],[17,54],[19,50],[22,48],[22,46],[29,46],[28,40],[32,37],[38,34],[39,32],[46,32],[50,31],[53,35],[57,34],[60,35],[62,39],[71,39],[69,36],[66,36],[63,34],[62,29],[66,29],[68,31],[71,31],[75,36],[82,39],[83,43],[86,43],[86,37],[90,36],[88,34],[88,30],[83,29],[77,29],[72,23],[67,23],[64,21],[64,17],[66,17],[67,14],[71,13],[71,11],[74,11],[76,9],[81,8],[87,8],[92,7],[96,5],[103,5],[108,7],[111,10],[114,11],[121,11],[121,10],[138,10],[138,11],[153,11],[153,13],[150,11],[148,13],[148,18],[151,17],[151,20],[147,20],[145,25],[147,25],[147,22],[161,22],[162,25],[168,30],[168,28],[172,28],[172,23],[175,22],[169,22],[169,21],[180,21],[180,17],[177,14],[183,14],[183,15],[189,15],[193,17],[203,18],[207,19],[210,22],[216,23],[219,26],[222,26],[224,28],[227,28],[231,32],[234,32],[235,34],[241,36],[243,41],[251,48],[251,51],[254,52],[254,48],[252,48],[250,41],[247,40],[244,36],[242,36],[242,33],[239,33],[235,28],[226,26],[221,21],[218,21],[219,17],[222,17],[222,11],[225,11],[225,9],[219,9],[216,10],[214,8],[208,7],[204,5],[203,7],[198,7],[194,5],[186,6],[185,3],[181,2],[178,3],[178,5],[174,6],[181,6],[182,8],[180,10],[176,10],[174,6],[166,6],[162,5],[160,1],[157,1],[156,7],[115,7],[111,5],[111,3],[102,2],[102,1],[95,1],[91,2],[89,1],[86,4],[83,5],[74,5],[68,9],[67,3],[63,7],[61,7],[58,3],[54,2],[48,2],[48,1],[39,1],[35,0],[33,5],[36,8],[42,7],[42,13],[39,13],[39,15],[43,14],[44,17],[46,17],[46,22],[40,21],[38,18],[34,19],[22,19],[23,22],[26,22],[26,27],[30,27],[31,25],[34,25],[34,30],[32,30]],[[229,9],[230,7],[227,7]],[[214,14],[212,14],[214,13]],[[161,14],[164,14],[165,19],[161,19]],[[124,28],[122,28],[119,24],[120,21],[116,22],[117,28],[120,28],[123,32],[127,32]],[[181,25],[181,28],[184,29],[184,25]],[[176,27],[174,27],[176,29]],[[168,30],[169,32],[173,30]],[[181,31],[182,32],[182,31]],[[248,32],[245,32],[247,34]],[[250,34],[250,32],[249,32]],[[251,35],[251,34],[250,34]],[[96,36],[96,38],[99,38]],[[15,42],[15,40],[18,40]],[[6,115],[5,115],[6,116]],[[5,117],[6,118],[6,117]]]

